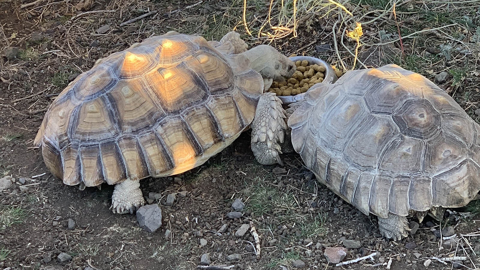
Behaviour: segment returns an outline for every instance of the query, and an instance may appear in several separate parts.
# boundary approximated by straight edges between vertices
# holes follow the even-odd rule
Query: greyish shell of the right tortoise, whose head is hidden
[[[397,65],[313,86],[288,125],[317,179],[366,215],[461,207],[480,190],[479,124]]]

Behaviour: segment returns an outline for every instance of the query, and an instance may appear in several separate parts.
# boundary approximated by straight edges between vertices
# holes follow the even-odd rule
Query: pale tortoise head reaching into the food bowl
[[[297,70],[295,63],[269,45],[259,45],[244,52],[250,60],[252,69],[264,78],[284,81]]]

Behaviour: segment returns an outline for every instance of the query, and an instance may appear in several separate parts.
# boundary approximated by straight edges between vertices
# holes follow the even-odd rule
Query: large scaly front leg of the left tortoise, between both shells
[[[260,96],[252,122],[252,151],[260,164],[281,164],[280,143],[284,141],[287,123],[282,101],[275,93],[267,92]]]

